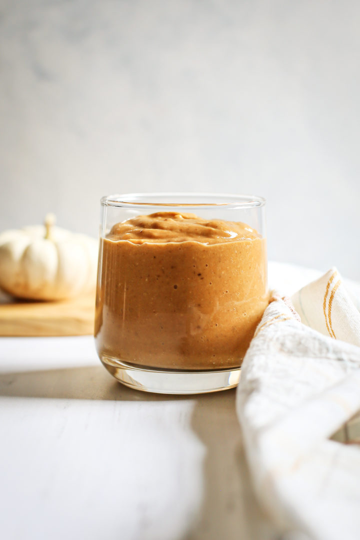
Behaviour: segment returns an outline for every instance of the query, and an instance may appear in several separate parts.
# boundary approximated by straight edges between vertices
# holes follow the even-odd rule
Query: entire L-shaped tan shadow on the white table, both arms
[[[235,390],[189,396],[145,393],[123,386],[99,365],[0,374],[0,396],[144,402],[192,400],[191,428],[206,447],[203,498],[191,531],[179,540],[274,538],[250,487],[235,412]]]

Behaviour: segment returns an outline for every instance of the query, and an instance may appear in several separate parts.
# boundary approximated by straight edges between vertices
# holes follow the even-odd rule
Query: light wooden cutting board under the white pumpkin
[[[55,302],[0,295],[0,336],[76,336],[94,331],[95,295]]]

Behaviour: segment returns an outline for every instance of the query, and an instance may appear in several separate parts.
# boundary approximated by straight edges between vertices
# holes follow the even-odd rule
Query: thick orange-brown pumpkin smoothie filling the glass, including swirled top
[[[100,358],[166,369],[241,365],[268,305],[266,240],[241,222],[158,212],[101,240]]]

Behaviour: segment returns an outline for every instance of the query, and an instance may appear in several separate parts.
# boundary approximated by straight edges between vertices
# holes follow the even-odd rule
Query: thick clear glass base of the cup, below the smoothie
[[[100,360],[118,381],[142,392],[205,394],[234,388],[240,380],[240,367],[184,371],[134,366],[107,355]]]

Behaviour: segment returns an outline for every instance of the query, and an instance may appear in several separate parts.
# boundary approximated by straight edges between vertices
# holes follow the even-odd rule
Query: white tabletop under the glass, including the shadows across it
[[[1,338],[1,538],[273,538],[234,400],[128,389],[90,336]]]

